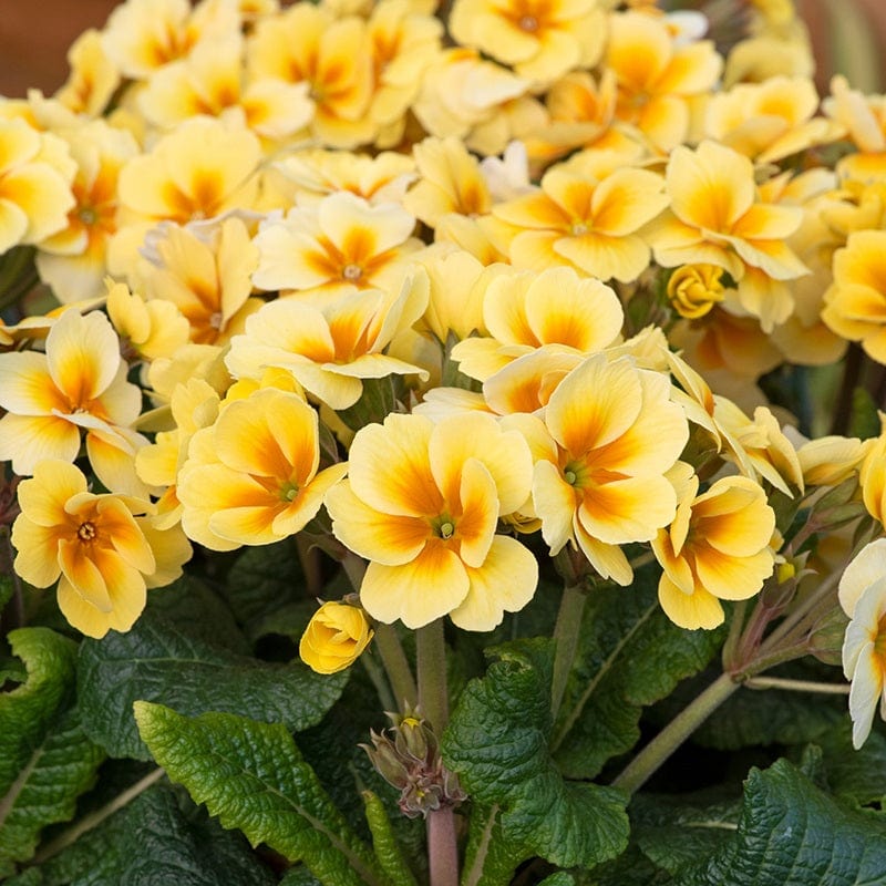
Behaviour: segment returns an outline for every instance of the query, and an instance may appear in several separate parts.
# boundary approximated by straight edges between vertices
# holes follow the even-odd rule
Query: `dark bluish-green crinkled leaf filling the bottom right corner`
[[[674,886],[876,886],[886,824],[846,808],[786,760],[753,769],[734,836]]]

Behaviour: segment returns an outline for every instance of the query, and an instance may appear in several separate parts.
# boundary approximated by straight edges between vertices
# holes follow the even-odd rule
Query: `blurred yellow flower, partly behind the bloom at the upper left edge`
[[[37,269],[53,295],[70,303],[104,291],[107,245],[117,230],[117,179],[138,145],[125,130],[100,120],[65,131],[64,138],[78,165],[74,206],[66,227],[40,244]]]

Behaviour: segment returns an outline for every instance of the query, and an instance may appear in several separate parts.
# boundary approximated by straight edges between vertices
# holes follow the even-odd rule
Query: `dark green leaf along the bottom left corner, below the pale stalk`
[[[154,785],[8,886],[274,886],[239,834],[176,794]]]

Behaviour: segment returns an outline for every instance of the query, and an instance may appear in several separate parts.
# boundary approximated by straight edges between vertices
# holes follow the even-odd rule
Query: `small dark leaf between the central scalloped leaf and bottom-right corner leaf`
[[[630,804],[631,838],[650,862],[677,874],[730,839],[740,813],[738,799],[637,794]]]

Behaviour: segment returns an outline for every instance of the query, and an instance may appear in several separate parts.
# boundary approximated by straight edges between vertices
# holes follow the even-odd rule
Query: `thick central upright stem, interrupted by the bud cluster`
[[[442,618],[419,628],[415,632],[415,649],[419,707],[434,733],[440,736],[449,720],[446,642]],[[459,843],[452,806],[444,803],[440,808],[429,812],[425,824],[431,886],[457,886]]]

